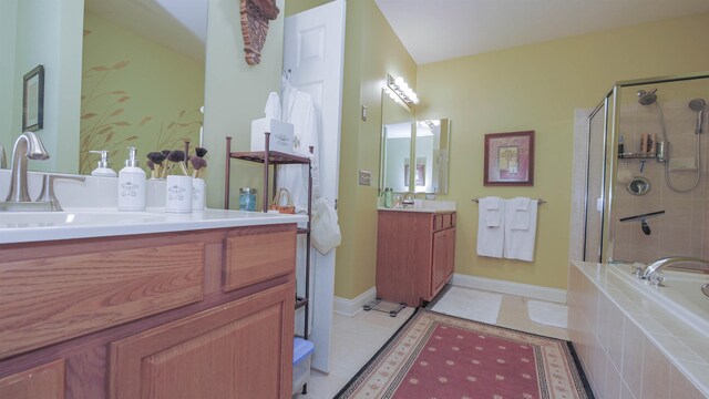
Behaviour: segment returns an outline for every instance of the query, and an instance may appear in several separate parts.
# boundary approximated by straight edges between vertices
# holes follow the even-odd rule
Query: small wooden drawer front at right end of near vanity
[[[224,291],[295,272],[295,228],[227,237],[224,247]]]

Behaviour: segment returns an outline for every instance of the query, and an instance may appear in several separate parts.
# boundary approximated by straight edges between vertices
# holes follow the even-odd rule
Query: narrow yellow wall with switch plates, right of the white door
[[[381,89],[387,73],[415,89],[415,63],[373,0],[347,2],[342,135],[335,295],[353,298],[374,286]],[[360,119],[361,105],[368,119]],[[358,171],[372,172],[372,185],[358,185]]]

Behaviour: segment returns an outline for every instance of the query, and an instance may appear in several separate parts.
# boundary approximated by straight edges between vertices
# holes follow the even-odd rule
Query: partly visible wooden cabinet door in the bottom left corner
[[[64,360],[1,378],[0,398],[63,399]]]

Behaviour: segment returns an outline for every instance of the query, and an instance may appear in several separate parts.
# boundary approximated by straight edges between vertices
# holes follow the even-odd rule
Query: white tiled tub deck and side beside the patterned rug
[[[709,397],[709,332],[607,268],[583,262],[569,268],[568,331],[596,397]]]

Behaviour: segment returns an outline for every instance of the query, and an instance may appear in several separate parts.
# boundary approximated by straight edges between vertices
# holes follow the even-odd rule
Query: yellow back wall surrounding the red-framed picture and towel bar
[[[459,204],[455,273],[566,288],[574,110],[614,82],[709,70],[709,13],[420,65],[419,117],[451,117],[449,195]],[[534,130],[533,187],[484,187],[485,133]],[[533,263],[475,254],[471,198],[542,197]],[[574,215],[582,217],[582,215]]]

